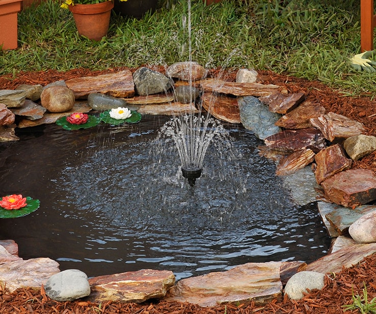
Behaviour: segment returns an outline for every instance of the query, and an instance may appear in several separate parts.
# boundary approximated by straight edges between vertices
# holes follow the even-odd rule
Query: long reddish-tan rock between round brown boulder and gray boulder
[[[97,76],[76,77],[65,83],[74,92],[76,99],[87,98],[91,93],[124,98],[135,95],[135,85],[129,70]]]

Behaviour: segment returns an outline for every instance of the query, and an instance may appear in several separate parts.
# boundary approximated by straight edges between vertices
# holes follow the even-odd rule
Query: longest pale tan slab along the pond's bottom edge
[[[200,306],[243,301],[265,304],[281,297],[280,269],[281,262],[248,263],[225,272],[185,278],[169,290],[166,300]]]

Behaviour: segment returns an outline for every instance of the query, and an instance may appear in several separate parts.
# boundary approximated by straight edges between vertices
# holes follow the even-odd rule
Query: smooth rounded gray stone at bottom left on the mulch
[[[45,284],[46,295],[52,300],[73,301],[90,295],[88,276],[77,269],[52,275]]]

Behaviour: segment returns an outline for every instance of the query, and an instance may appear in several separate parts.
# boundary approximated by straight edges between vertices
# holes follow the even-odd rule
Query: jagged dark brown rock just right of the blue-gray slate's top
[[[259,100],[267,106],[271,112],[276,112],[280,114],[286,114],[292,109],[296,108],[299,103],[305,99],[304,93],[294,93],[294,94],[281,94],[273,93],[266,97],[260,97]]]

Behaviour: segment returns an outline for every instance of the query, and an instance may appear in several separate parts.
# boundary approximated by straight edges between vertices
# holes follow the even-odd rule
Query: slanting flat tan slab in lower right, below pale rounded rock
[[[352,267],[375,252],[376,243],[350,245],[313,261],[301,270],[323,274],[339,273],[342,267]]]

